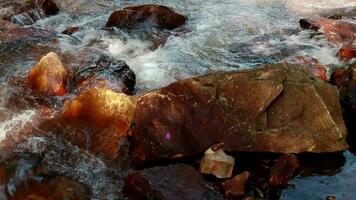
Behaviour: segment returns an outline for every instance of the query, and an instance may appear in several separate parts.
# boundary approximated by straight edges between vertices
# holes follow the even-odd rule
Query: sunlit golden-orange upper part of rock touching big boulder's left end
[[[99,127],[115,127],[126,133],[131,125],[135,98],[109,89],[88,90],[64,105],[61,118]]]

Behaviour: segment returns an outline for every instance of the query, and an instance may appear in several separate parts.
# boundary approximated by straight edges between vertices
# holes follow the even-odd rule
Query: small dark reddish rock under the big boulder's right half
[[[270,187],[286,187],[289,179],[296,175],[300,166],[297,156],[292,154],[282,155],[277,162],[272,166],[268,184]]]

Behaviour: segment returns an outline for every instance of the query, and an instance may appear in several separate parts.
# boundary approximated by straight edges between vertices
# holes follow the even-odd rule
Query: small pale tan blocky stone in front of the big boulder
[[[234,170],[235,158],[228,156],[222,149],[205,151],[205,156],[200,162],[200,172],[213,174],[217,178],[230,178]]]

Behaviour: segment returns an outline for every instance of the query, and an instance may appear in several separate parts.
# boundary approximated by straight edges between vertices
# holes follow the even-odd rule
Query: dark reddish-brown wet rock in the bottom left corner
[[[90,199],[90,191],[78,182],[65,177],[30,180],[16,188],[9,200],[86,200]]]

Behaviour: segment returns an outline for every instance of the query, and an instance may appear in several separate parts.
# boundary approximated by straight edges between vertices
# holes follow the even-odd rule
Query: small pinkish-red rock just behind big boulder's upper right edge
[[[317,59],[310,56],[297,56],[287,60],[288,62],[299,64],[299,66],[312,73],[315,77],[318,77],[323,81],[328,81],[326,67]]]

